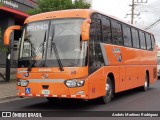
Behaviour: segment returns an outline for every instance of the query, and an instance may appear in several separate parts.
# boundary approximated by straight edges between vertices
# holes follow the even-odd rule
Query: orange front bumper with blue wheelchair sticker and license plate
[[[29,83],[26,87],[17,86],[19,97],[56,97],[88,99],[88,85],[69,88],[64,83]]]

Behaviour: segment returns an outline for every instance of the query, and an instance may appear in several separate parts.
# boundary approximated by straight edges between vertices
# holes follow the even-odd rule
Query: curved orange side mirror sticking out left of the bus
[[[15,25],[6,29],[4,33],[4,45],[8,46],[10,44],[10,35],[13,30],[21,30],[21,26]]]

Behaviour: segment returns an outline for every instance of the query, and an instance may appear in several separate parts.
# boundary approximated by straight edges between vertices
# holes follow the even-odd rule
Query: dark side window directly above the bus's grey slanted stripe
[[[103,29],[103,40],[105,43],[111,43],[111,26],[110,26],[110,20],[103,17],[102,18],[102,29]]]

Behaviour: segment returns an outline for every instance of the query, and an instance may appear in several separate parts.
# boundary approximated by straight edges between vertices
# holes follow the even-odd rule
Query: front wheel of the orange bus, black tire
[[[107,77],[106,81],[106,95],[100,98],[100,102],[102,104],[107,104],[111,101],[113,97],[113,84],[109,77]]]

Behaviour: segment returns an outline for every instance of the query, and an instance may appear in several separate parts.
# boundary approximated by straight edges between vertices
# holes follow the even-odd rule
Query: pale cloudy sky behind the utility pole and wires
[[[132,0],[92,0],[92,9],[130,22],[131,16],[127,14],[131,14],[129,6],[131,3]],[[160,0],[147,0],[147,3],[137,4],[135,14],[139,14],[139,16],[135,16],[134,25],[145,29],[160,19]],[[148,31],[155,35],[156,43],[160,46],[160,23]]]

